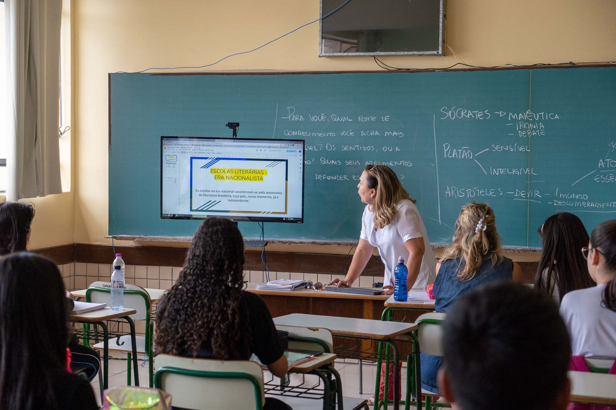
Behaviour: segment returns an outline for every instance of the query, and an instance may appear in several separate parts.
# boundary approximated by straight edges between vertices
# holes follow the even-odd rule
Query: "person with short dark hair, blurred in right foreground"
[[[569,336],[547,294],[516,283],[467,293],[450,309],[442,340],[439,391],[453,409],[567,408]]]

